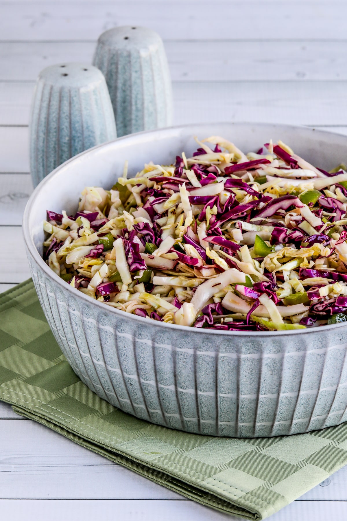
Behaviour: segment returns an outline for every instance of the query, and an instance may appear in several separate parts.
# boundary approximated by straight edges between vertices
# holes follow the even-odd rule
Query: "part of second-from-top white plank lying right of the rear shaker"
[[[247,12],[247,10],[245,9]],[[174,81],[341,81],[347,42],[165,42]]]

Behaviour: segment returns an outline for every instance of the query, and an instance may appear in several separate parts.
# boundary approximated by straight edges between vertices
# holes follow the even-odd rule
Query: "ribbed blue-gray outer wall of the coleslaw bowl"
[[[30,254],[29,254],[30,255]],[[247,337],[182,334],[81,300],[30,258],[35,288],[73,370],[112,405],[210,436],[307,432],[347,420],[346,327]]]

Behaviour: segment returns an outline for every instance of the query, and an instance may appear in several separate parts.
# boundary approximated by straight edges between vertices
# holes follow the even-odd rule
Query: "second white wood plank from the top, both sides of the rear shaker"
[[[347,42],[166,41],[173,81],[347,79]],[[91,63],[95,42],[0,42],[0,81],[34,81],[44,67]]]

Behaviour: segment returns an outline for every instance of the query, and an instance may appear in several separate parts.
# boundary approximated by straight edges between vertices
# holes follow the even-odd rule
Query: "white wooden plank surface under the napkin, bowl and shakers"
[[[175,123],[277,121],[347,134],[346,18],[343,0],[0,0],[0,291],[30,276],[20,225],[38,71],[88,63],[102,31],[143,25],[164,40]],[[4,521],[230,519],[1,403],[0,512]],[[347,467],[272,519],[346,517]]]

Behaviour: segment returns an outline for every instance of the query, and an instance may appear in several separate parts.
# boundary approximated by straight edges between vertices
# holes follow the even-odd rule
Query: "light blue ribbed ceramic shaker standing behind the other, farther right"
[[[93,65],[106,78],[119,136],[172,125],[172,87],[163,42],[146,27],[99,36]]]

